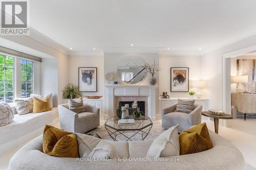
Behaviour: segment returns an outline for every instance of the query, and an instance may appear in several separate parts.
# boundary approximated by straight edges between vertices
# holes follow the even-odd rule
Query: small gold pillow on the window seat
[[[39,112],[51,110],[49,98],[46,98],[43,100],[33,98],[33,101],[34,101],[33,102],[33,113],[39,113]]]

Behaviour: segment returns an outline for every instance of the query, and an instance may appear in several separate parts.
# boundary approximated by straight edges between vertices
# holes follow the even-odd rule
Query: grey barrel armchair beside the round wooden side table
[[[177,104],[174,104],[162,110],[162,127],[164,129],[168,129],[180,124],[178,127],[178,132],[181,133],[183,130],[189,129],[191,126],[201,123],[201,105],[195,105],[195,109],[190,113],[175,112],[176,107]]]

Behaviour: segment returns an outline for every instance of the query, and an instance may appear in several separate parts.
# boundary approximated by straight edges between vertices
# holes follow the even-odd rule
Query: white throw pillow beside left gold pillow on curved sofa
[[[76,133],[79,155],[82,158],[117,158],[117,151],[107,140]]]

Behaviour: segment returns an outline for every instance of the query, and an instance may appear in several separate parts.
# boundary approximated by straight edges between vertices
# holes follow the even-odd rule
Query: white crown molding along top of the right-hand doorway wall
[[[211,53],[211,52],[216,51],[216,50],[218,50],[222,47],[225,47],[225,46],[230,45],[232,43],[238,42],[240,40],[243,40],[243,39],[248,38],[248,37],[253,36],[253,35],[256,35],[256,25],[253,25],[253,26],[251,26],[247,29],[244,29],[243,31],[241,31],[237,34],[234,34],[231,38],[229,38],[226,41],[223,41],[223,42],[219,43],[218,45],[206,48],[206,50],[202,51],[201,55]]]

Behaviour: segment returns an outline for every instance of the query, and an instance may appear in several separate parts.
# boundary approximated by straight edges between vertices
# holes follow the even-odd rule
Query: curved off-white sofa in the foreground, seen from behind
[[[170,161],[130,161],[145,157],[152,140],[118,141],[114,144],[120,161],[77,161],[76,158],[61,158],[42,153],[42,136],[27,143],[11,158],[9,169],[244,169],[241,152],[226,139],[209,132],[214,148],[189,155],[174,156],[178,162]],[[125,161],[126,159],[126,161]]]

